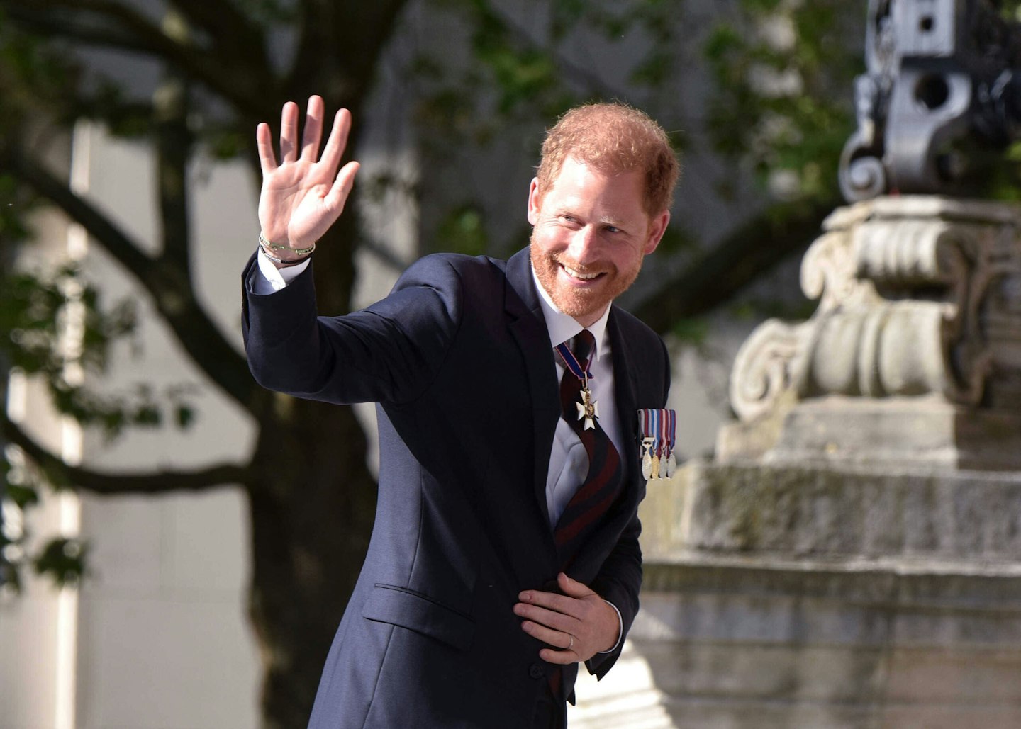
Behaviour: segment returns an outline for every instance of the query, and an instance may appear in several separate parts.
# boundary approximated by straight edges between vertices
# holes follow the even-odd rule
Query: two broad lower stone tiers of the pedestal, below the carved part
[[[1021,474],[688,464],[574,729],[1016,729]]]

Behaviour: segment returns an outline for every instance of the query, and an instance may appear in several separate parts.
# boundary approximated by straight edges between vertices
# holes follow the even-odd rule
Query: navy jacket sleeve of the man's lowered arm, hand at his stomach
[[[658,402],[650,405],[655,407],[666,407],[667,394],[670,392],[670,359],[667,348],[662,340],[657,337],[661,352],[662,383],[663,388],[658,396]],[[646,405],[648,401],[642,402]],[[645,482],[638,479],[641,488],[640,497],[645,496]],[[640,502],[640,499],[639,499]],[[585,662],[588,672],[594,674],[597,679],[601,679],[617,663],[621,649],[624,646],[624,639],[627,637],[631,624],[638,614],[638,592],[641,589],[641,548],[638,543],[638,536],[641,534],[641,522],[636,514],[627,528],[621,534],[610,557],[602,564],[599,574],[590,585],[603,600],[609,600],[617,609],[621,611],[621,621],[623,623],[621,640],[617,647],[609,654],[596,654]]]

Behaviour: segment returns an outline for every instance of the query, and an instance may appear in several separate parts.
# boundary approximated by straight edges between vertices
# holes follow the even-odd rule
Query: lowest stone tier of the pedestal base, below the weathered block
[[[1021,726],[1021,566],[675,555],[572,727]]]

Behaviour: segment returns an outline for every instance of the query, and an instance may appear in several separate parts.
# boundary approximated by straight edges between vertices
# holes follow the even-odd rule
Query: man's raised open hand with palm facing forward
[[[354,185],[357,162],[348,162],[337,171],[351,129],[351,113],[347,109],[337,112],[330,139],[317,159],[323,139],[324,106],[322,97],[309,97],[299,150],[298,106],[291,101],[284,104],[279,164],[270,125],[260,123],[255,132],[262,167],[258,220],[262,235],[273,243],[290,248],[310,246],[340,217]]]

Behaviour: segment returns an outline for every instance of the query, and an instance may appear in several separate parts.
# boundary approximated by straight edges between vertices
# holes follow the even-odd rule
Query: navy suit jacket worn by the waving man
[[[243,329],[258,382],[378,403],[376,523],[310,726],[528,726],[550,667],[512,608],[561,570],[545,496],[558,383],[528,250],[507,262],[427,256],[387,298],[339,317],[317,317],[310,267],[257,296],[255,265]],[[627,631],[645,491],[635,411],[664,407],[670,366],[662,340],[616,306],[607,330],[633,447],[622,454],[622,497],[569,574],[614,603]],[[595,656],[589,671],[601,678],[619,653]],[[567,667],[569,696],[576,676]]]

